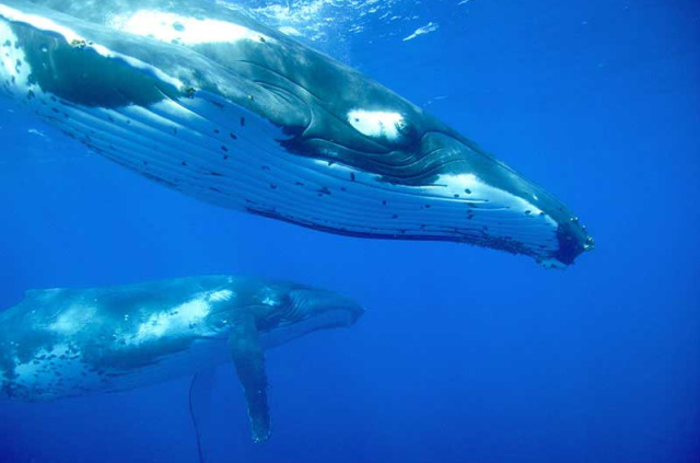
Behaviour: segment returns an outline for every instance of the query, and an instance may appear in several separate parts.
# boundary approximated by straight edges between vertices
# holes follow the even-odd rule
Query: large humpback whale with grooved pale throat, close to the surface
[[[360,72],[196,0],[0,0],[0,93],[93,151],[226,208],[565,267],[559,199]]]

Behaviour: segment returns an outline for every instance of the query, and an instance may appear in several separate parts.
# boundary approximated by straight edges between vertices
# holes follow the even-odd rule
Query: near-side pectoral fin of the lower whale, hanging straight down
[[[253,440],[262,442],[270,437],[267,375],[262,347],[252,315],[242,316],[236,321],[229,336],[229,347],[248,404]]]

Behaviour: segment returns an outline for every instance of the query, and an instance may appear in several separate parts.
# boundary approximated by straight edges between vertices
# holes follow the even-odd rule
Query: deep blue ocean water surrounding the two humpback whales
[[[327,5],[336,28],[302,39],[557,194],[594,252],[545,270],[232,212],[0,100],[0,308],[32,288],[215,273],[366,305],[355,326],[268,352],[265,444],[250,442],[233,369],[219,369],[214,461],[700,461],[700,4],[350,3]],[[188,384],[0,403],[0,461],[195,462]]]

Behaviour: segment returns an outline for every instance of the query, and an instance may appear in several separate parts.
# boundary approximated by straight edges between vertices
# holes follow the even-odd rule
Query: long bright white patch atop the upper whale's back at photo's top
[[[158,10],[140,10],[128,16],[115,16],[110,25],[117,31],[183,45],[272,40],[267,35],[235,23],[180,16]]]

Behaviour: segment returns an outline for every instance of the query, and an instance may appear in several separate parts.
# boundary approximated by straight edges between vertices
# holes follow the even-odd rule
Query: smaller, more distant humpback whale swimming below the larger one
[[[211,370],[232,359],[253,439],[264,441],[270,433],[264,349],[352,325],[362,313],[323,289],[226,275],[27,291],[0,312],[0,397],[54,401],[195,375],[197,427]]]

